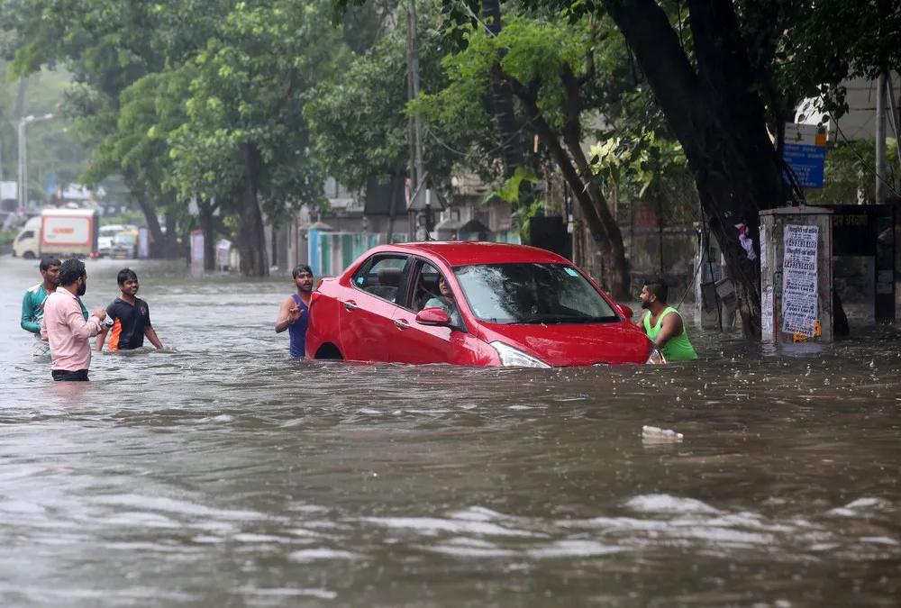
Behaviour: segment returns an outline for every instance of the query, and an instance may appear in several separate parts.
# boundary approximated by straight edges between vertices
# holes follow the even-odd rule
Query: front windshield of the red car
[[[490,323],[604,323],[619,315],[581,273],[564,264],[458,266],[472,313]]]

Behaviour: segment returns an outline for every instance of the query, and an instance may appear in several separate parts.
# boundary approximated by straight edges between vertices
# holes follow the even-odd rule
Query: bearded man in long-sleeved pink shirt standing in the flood
[[[77,296],[85,295],[87,270],[84,262],[67,259],[59,267],[59,288],[47,296],[41,338],[50,341],[50,368],[54,380],[87,380],[91,347],[87,339],[97,335],[106,311],[98,308],[85,321]]]

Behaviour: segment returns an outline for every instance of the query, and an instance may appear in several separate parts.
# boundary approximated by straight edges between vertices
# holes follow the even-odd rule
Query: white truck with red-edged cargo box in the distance
[[[45,209],[40,217],[25,222],[13,241],[13,255],[96,258],[99,232],[100,214],[95,209]]]

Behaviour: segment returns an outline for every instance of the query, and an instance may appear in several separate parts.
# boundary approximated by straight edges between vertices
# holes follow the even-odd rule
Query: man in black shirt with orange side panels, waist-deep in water
[[[135,296],[138,293],[138,276],[132,269],[123,268],[116,281],[122,296],[106,307],[106,318],[112,321],[112,331],[106,324],[97,334],[97,351],[104,349],[107,332],[110,332],[107,345],[110,350],[140,349],[144,345],[144,336],[153,346],[163,348],[157,332],[150,325],[150,306]]]

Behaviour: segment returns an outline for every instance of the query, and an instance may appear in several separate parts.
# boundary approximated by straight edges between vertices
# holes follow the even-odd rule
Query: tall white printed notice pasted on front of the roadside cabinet
[[[817,226],[785,227],[782,261],[782,331],[813,336],[816,328]]]

